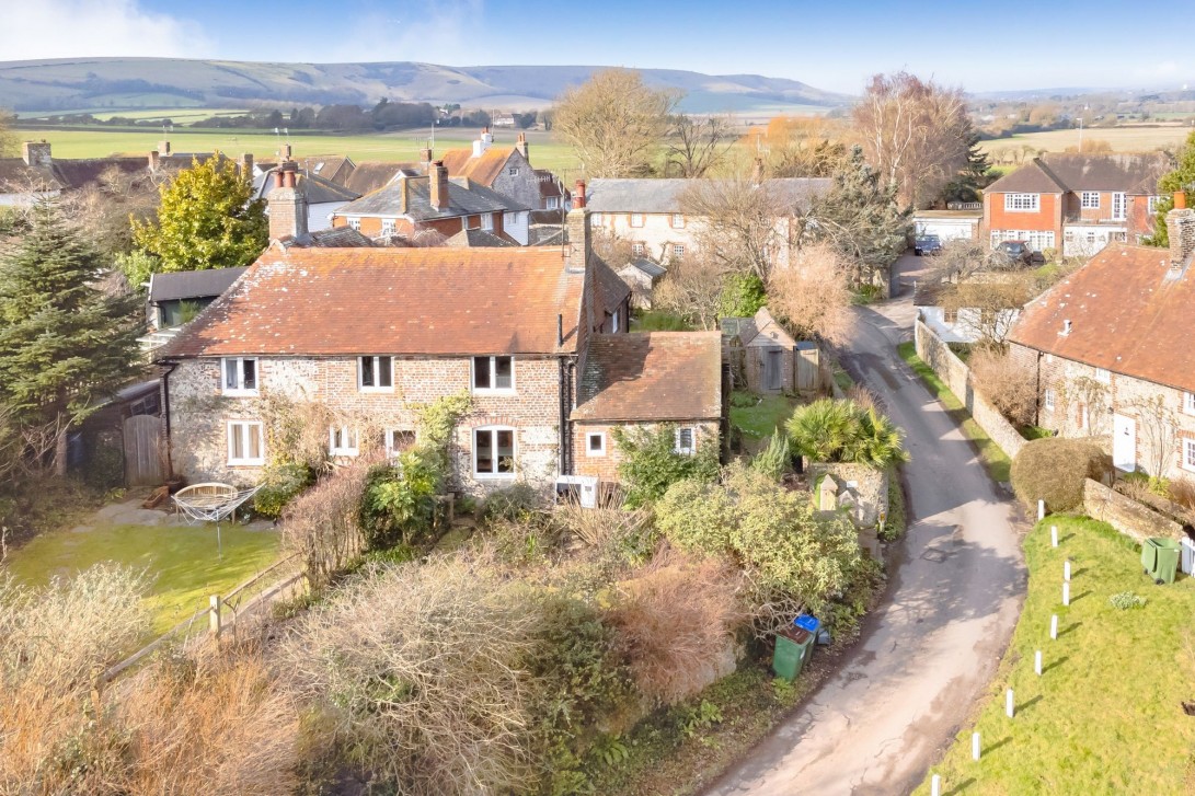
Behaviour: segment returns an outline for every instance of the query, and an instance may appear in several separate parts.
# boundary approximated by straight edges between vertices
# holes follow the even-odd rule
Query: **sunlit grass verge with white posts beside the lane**
[[[1049,526],[1059,528],[1052,549]],[[1062,562],[1073,569],[1070,607],[1061,605]],[[1195,581],[1154,586],[1135,545],[1086,518],[1049,516],[1025,539],[1029,595],[989,703],[964,728],[943,763],[943,794],[1195,792]],[[1108,598],[1135,592],[1142,608],[1119,611]],[[1059,638],[1050,641],[1050,614]],[[1034,653],[1043,653],[1043,675]],[[1019,706],[1009,720],[1005,690]],[[970,758],[979,730],[985,753]],[[917,794],[929,794],[924,783]]]

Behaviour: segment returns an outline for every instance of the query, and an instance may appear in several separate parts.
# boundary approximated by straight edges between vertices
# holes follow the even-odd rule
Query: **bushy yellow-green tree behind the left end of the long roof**
[[[219,153],[161,186],[157,224],[131,222],[134,243],[163,271],[247,265],[269,243],[265,202],[253,198],[249,178]]]

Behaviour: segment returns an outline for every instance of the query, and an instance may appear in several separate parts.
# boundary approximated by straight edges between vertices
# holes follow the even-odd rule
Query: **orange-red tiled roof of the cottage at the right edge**
[[[1009,341],[1195,392],[1195,274],[1188,265],[1175,277],[1169,265],[1166,249],[1108,246],[1030,301]]]

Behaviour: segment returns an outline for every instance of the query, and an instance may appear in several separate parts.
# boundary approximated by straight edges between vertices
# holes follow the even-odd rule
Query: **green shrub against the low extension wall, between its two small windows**
[[[690,478],[710,480],[718,474],[717,446],[699,441],[692,455],[676,453],[676,425],[655,429],[615,428],[614,441],[623,452],[618,474],[626,484],[626,506],[635,508],[663,497],[668,488]]]

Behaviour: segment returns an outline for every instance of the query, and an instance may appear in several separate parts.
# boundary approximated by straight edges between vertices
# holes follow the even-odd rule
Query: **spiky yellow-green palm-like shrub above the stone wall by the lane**
[[[822,398],[798,408],[785,428],[792,446],[811,461],[887,467],[908,460],[903,431],[874,405]]]

